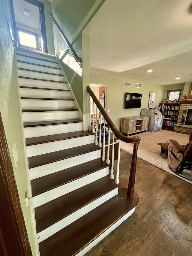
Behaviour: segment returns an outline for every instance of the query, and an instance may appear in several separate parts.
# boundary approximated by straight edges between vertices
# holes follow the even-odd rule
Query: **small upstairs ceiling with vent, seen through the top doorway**
[[[17,23],[34,29],[40,27],[39,8],[23,0],[13,0],[15,20]],[[31,11],[31,17],[22,14],[22,8]]]

